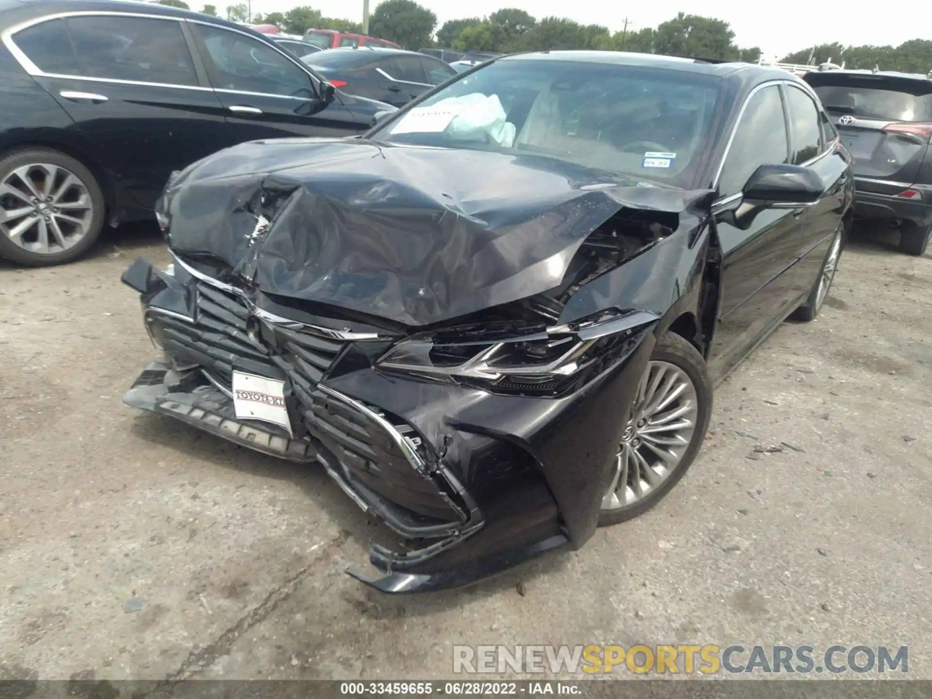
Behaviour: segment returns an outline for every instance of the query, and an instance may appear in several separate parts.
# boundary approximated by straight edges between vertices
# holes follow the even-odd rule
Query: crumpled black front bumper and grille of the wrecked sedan
[[[146,329],[166,354],[124,403],[321,464],[404,540],[395,550],[370,545],[375,574],[348,570],[363,583],[387,593],[459,587],[594,533],[652,327],[581,391],[503,396],[385,376],[366,360],[373,345],[327,344],[184,270],[166,275],[140,260],[124,281],[142,295]],[[292,434],[237,418],[228,378],[238,367],[285,382]]]

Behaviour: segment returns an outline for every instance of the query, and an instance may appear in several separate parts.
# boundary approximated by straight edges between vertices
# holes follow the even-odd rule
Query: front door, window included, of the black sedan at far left
[[[370,127],[286,51],[235,29],[191,21],[207,75],[238,143],[287,136],[348,136]]]

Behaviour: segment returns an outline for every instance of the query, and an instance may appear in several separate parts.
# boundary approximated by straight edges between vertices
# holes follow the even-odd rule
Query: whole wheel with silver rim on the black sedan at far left
[[[0,257],[30,267],[62,265],[100,237],[103,192],[75,158],[49,148],[11,151],[0,157],[3,185]]]

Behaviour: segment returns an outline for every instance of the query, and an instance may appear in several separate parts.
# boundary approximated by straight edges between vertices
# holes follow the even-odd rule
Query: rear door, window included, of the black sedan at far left
[[[183,20],[73,12],[36,21],[10,41],[93,145],[89,155],[141,206],[155,203],[171,171],[228,144],[223,106]]]

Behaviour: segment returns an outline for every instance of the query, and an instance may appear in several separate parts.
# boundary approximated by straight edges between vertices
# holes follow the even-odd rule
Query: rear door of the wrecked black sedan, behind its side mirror
[[[844,212],[844,185],[848,161],[829,123],[829,117],[802,87],[784,87],[789,120],[791,162],[816,172],[825,194],[805,207],[800,217],[798,256],[794,272],[800,294],[808,293],[816,282]],[[826,138],[828,132],[830,138]]]

